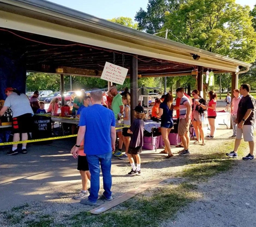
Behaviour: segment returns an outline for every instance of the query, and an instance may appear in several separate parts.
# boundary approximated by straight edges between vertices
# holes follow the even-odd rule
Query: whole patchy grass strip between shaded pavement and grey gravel
[[[202,197],[197,191],[197,184],[200,181],[207,181],[212,176],[229,171],[236,165],[236,159],[223,157],[223,151],[233,150],[233,142],[234,140],[226,140],[220,147],[214,147],[214,150],[217,151],[216,153],[208,150],[205,151],[203,157],[197,154],[190,158],[182,171],[176,173],[176,176],[182,177],[185,182],[178,184],[167,183],[168,181],[162,182],[157,187],[148,189],[144,193],[136,195],[99,215],[92,215],[88,211],[82,211],[77,214],[62,216],[62,221],[58,224],[54,221],[54,215],[37,214],[36,216],[25,218],[32,214],[29,211],[29,205],[25,204],[12,208],[10,212],[2,212],[2,216],[10,226],[20,222],[24,223],[20,226],[28,227],[160,226],[164,222],[173,220],[177,211],[184,209],[189,203]],[[243,155],[247,148],[248,143],[242,141],[238,154],[240,156]],[[165,175],[167,178],[171,177],[171,173]]]

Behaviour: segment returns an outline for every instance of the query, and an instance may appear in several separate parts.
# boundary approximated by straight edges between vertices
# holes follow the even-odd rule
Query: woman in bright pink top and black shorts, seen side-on
[[[213,138],[214,133],[215,133],[215,119],[217,116],[216,113],[216,93],[213,91],[209,91],[209,97],[210,101],[208,103],[208,108],[207,108],[207,118],[210,124],[210,135],[207,136],[208,138]]]

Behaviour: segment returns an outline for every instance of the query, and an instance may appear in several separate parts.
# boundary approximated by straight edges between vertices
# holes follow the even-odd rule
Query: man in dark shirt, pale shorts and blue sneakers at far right
[[[234,141],[234,150],[230,153],[226,153],[227,156],[231,158],[237,158],[237,150],[241,143],[241,139],[244,137],[244,141],[249,143],[250,153],[243,158],[243,160],[254,159],[254,123],[255,123],[255,101],[254,98],[249,94],[251,86],[249,84],[242,84],[240,87],[240,94],[243,95],[237,110],[237,118],[235,122],[237,123],[237,136]]]

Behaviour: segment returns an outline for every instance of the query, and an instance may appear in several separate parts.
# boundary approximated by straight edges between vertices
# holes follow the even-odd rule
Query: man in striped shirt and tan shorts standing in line
[[[181,98],[179,102],[179,124],[178,124],[178,135],[181,137],[184,150],[179,153],[179,155],[189,155],[189,126],[191,123],[190,113],[191,104],[189,98],[184,94],[184,88],[177,88],[177,96]]]

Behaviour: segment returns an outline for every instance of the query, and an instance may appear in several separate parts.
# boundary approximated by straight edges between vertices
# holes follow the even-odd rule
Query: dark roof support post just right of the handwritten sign
[[[138,103],[138,59],[137,55],[131,56],[130,59],[130,95],[131,95],[131,100],[130,100],[130,106],[131,109],[133,110],[137,103]],[[134,115],[131,114],[131,123],[134,120]]]

